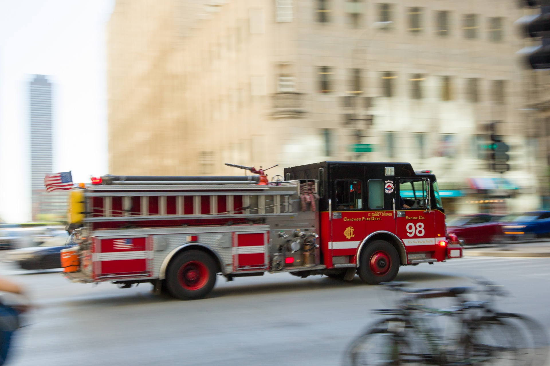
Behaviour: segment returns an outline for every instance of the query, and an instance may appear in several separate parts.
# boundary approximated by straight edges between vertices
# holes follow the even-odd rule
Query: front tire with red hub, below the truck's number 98
[[[362,250],[357,273],[367,284],[392,281],[398,271],[399,254],[387,241],[375,240]]]

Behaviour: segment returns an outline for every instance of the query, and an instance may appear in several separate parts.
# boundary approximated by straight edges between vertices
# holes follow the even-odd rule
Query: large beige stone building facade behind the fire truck
[[[118,0],[113,174],[407,161],[450,212],[537,208],[514,0]],[[488,125],[511,146],[489,170]],[[485,184],[480,182],[485,181]],[[453,197],[453,198],[451,198]]]

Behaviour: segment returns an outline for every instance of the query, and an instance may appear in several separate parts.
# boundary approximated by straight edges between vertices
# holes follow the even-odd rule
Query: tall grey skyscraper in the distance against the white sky
[[[66,210],[66,192],[46,193],[44,176],[52,173],[52,84],[45,75],[30,82],[32,220],[58,220]]]

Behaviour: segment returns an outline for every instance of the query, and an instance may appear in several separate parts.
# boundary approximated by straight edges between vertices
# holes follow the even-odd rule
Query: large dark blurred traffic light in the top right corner
[[[525,61],[531,69],[550,69],[550,0],[522,0],[523,7],[540,7],[541,12],[522,16],[516,21],[527,37],[541,38],[541,45],[525,47]]]

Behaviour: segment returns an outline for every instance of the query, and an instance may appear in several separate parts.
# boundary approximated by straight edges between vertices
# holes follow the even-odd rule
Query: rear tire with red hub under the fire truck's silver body
[[[205,297],[216,284],[216,268],[216,262],[207,253],[185,251],[168,265],[166,287],[181,300]]]

